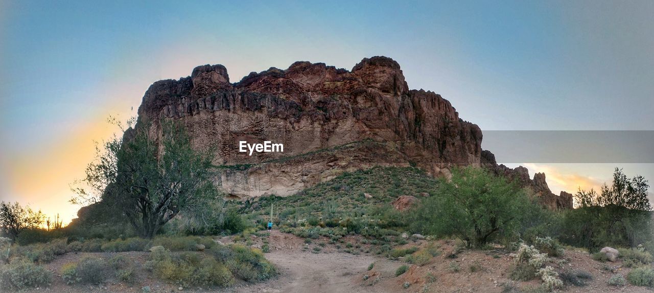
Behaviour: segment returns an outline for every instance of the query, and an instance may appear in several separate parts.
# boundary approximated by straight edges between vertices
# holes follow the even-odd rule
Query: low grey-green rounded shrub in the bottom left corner
[[[13,260],[0,267],[0,288],[23,290],[50,286],[52,273],[26,260]]]

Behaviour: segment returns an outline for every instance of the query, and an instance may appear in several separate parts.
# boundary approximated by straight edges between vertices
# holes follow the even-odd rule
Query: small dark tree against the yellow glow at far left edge
[[[14,241],[20,232],[39,228],[44,220],[45,215],[40,210],[35,212],[30,207],[22,207],[18,202],[0,203],[0,228]]]

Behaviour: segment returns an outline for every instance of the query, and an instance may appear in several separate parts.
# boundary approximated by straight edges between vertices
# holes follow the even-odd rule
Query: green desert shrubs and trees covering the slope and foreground
[[[76,189],[75,201],[90,205],[69,226],[58,220],[50,226],[38,211],[1,203],[7,238],[0,243],[0,286],[45,287],[55,278],[67,286],[133,286],[144,274],[182,287],[265,281],[277,274],[264,254],[271,251],[269,234],[262,232],[268,221],[304,239],[306,252],[404,262],[394,268],[396,278],[415,274],[415,267],[435,267],[436,258],[445,259],[444,273],[480,273],[485,263],[457,260],[479,252],[510,258],[511,282],[555,291],[596,281],[587,271],[565,269],[568,250],[588,252],[600,263],[611,260],[600,249],[615,247],[625,271],[610,267],[611,276],[599,281],[654,286],[649,186],[621,169],[600,192],[579,190],[576,209],[562,211],[543,208],[530,190],[479,167],[453,168],[449,180],[416,167],[372,167],[293,196],[235,201],[213,188],[209,178],[221,167],[211,164],[211,156],[192,150],[183,128],[162,128],[130,128],[99,150],[83,181],[87,188]],[[154,147],[156,135],[149,131],[169,137],[160,141],[163,149]],[[217,236],[233,243],[219,243]],[[65,254],[80,258],[46,269]],[[364,281],[376,269],[371,263]],[[426,279],[433,283],[436,277]],[[377,275],[370,284],[379,281]]]

